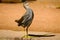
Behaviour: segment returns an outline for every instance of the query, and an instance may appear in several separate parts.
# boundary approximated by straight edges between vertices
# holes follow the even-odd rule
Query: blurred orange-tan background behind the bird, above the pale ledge
[[[60,0],[27,0],[34,11],[29,31],[60,33]],[[23,31],[15,22],[26,12],[22,0],[0,0],[0,30]]]

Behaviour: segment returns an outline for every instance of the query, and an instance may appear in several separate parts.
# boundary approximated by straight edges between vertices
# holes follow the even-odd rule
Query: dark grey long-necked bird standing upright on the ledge
[[[26,9],[25,14],[19,20],[15,20],[15,22],[18,23],[18,26],[26,28],[26,33],[28,35],[28,28],[33,21],[34,13],[33,10],[28,6],[28,2],[24,2],[23,7]]]

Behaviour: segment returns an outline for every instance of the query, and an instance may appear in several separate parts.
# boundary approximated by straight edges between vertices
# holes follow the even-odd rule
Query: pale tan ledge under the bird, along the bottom
[[[29,31],[29,34],[33,36],[38,35],[38,37],[31,38],[31,40],[37,40],[37,39],[38,40],[60,40],[60,33]],[[7,39],[21,40],[21,37],[24,35],[25,35],[24,31],[0,30],[0,40],[7,40]],[[55,35],[55,36],[49,36],[49,35]],[[26,40],[26,39],[23,39],[23,40]]]

